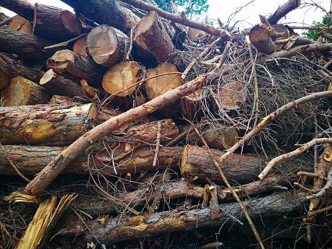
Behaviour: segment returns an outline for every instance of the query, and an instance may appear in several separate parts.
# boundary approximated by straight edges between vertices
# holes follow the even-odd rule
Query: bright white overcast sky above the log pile
[[[230,26],[233,26],[235,21],[242,21],[238,22],[236,26],[239,28],[250,28],[255,24],[259,24],[259,14],[261,15],[268,15],[275,10],[277,10],[278,6],[285,3],[288,0],[207,0],[209,3],[209,11],[207,12],[208,18],[213,20],[214,24],[217,24],[216,19],[217,17],[220,18],[222,23],[227,23],[229,17],[232,13],[236,12],[236,8],[245,6],[242,8],[240,12],[238,12],[233,19],[231,19]],[[320,0],[315,1],[315,3],[319,4],[325,10],[330,10],[332,0]],[[69,9],[72,10],[67,4],[62,3],[60,0],[29,0],[30,3],[42,3],[46,5],[56,6],[59,8]],[[252,3],[250,3],[252,2]],[[302,0],[302,3],[313,3],[313,0]],[[247,3],[250,3],[247,5]],[[247,5],[247,6],[246,6]],[[1,8],[1,12],[6,12],[7,15],[15,15],[13,12],[7,12],[6,9]],[[291,24],[295,26],[294,22],[297,24],[312,24],[313,21],[321,21],[322,17],[325,15],[322,10],[317,8],[300,8],[297,10],[293,10],[290,12],[286,19],[281,19],[279,23],[284,24]]]

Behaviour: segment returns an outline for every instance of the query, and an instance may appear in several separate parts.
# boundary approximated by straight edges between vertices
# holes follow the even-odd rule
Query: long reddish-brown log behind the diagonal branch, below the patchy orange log
[[[2,121],[1,121],[2,124]],[[2,130],[1,130],[2,133]],[[24,146],[24,145],[3,145],[10,160],[17,166],[17,169],[23,175],[35,175],[44,169],[44,166],[49,164],[55,157],[60,155],[63,147],[59,146]],[[105,164],[95,160],[91,155],[101,150],[98,148],[88,148],[80,154],[62,173],[64,174],[82,174],[89,175],[90,173],[98,173],[99,175],[125,175],[126,173],[139,173],[141,171],[159,171],[168,169],[178,170],[179,162],[183,152],[182,147],[161,147],[159,148],[157,166],[152,166],[155,151],[148,147],[137,148],[130,155],[114,162],[117,174],[114,171],[114,166]],[[91,154],[93,152],[93,154]],[[17,175],[16,171],[12,169],[7,158],[0,150],[0,175]],[[132,195],[130,195],[132,197]],[[125,198],[128,202],[129,198]]]

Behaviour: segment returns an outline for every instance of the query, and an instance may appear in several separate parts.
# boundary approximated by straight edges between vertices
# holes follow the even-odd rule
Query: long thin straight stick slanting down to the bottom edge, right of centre
[[[200,131],[196,128],[195,124],[193,122],[191,122],[189,119],[186,119],[185,117],[183,117],[183,119],[185,121],[187,121],[188,123],[191,124],[191,126],[193,126],[193,128],[195,129],[198,137],[200,137],[200,139],[202,140],[205,148],[207,148],[207,151],[209,152],[209,155],[211,157],[211,159],[213,160],[213,163],[216,165],[222,180],[225,182],[226,186],[229,188],[229,190],[231,191],[231,194],[233,194],[234,198],[236,199],[236,202],[238,203],[238,205],[241,207],[241,210],[243,212],[243,214],[245,214],[245,218],[247,218],[247,221],[250,225],[250,227],[252,228],[252,232],[254,232],[254,236],[256,237],[257,242],[259,243],[259,246],[261,247],[261,249],[264,248],[264,245],[261,241],[261,238],[259,237],[258,232],[256,231],[256,227],[254,226],[254,223],[252,223],[252,219],[250,218],[249,214],[247,213],[247,210],[245,209],[245,207],[243,206],[243,204],[241,203],[240,198],[238,197],[238,195],[236,194],[236,192],[234,191],[234,189],[231,187],[231,184],[229,184],[225,174],[222,172],[222,169],[220,168],[220,165],[218,164],[218,162],[216,161],[216,159],[213,157],[213,154],[211,152],[211,149],[209,148],[209,145],[207,144],[207,141],[205,141],[204,137],[200,134]]]

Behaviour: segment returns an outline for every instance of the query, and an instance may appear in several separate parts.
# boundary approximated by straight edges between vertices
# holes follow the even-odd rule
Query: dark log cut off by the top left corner
[[[2,0],[0,6],[17,13],[30,21],[33,20],[33,3],[26,0]]]

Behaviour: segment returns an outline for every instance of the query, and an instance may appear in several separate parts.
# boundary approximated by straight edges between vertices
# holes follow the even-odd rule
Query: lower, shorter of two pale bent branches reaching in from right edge
[[[274,157],[268,165],[265,166],[265,169],[259,174],[259,178],[263,179],[265,175],[269,173],[269,171],[272,169],[272,167],[280,162],[281,160],[286,160],[288,158],[295,157],[296,155],[300,155],[304,153],[304,151],[308,150],[308,148],[311,148],[315,146],[316,144],[326,144],[326,143],[332,143],[332,138],[317,138],[309,141],[306,144],[303,144],[300,148],[297,148],[295,151],[291,151],[289,153],[279,155],[279,157]]]

